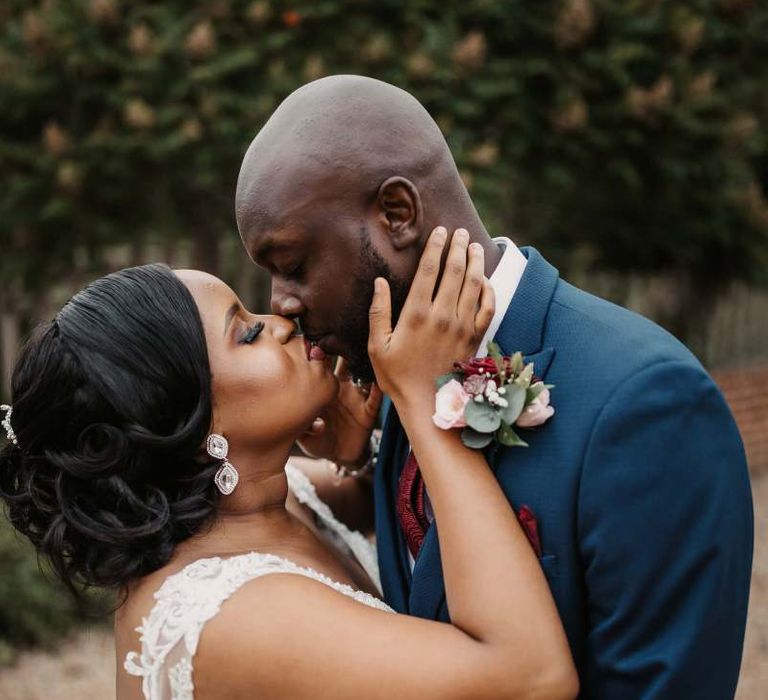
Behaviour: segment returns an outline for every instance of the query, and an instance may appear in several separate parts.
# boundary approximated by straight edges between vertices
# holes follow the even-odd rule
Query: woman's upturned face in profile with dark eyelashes
[[[177,275],[205,328],[213,431],[234,449],[280,445],[306,431],[336,395],[330,361],[310,359],[292,321],[249,313],[220,279],[194,270]]]

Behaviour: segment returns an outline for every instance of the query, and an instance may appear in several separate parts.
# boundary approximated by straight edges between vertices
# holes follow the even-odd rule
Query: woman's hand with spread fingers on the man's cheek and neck
[[[389,285],[376,279],[370,308],[368,354],[381,390],[397,405],[432,401],[435,379],[457,360],[477,351],[493,318],[493,288],[484,277],[479,243],[457,229],[451,240],[440,285],[440,260],[447,231],[438,226],[430,235],[400,318],[392,329]],[[433,298],[434,297],[434,298]]]

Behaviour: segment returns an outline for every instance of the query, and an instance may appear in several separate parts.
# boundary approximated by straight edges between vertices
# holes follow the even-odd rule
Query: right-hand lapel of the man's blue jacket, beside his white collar
[[[523,248],[522,251],[528,263],[494,340],[505,355],[522,352],[526,362],[533,362],[536,376],[544,379],[555,356],[554,348],[542,345],[546,318],[559,275],[534,248]],[[496,461],[497,452],[493,446],[488,455],[491,465]],[[444,602],[440,546],[437,528],[432,525],[413,569],[408,611],[418,617],[437,619]]]

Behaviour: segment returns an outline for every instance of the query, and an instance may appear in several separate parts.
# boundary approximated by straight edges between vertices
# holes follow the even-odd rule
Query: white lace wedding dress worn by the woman
[[[339,522],[299,469],[285,468],[288,486],[315,514],[318,525],[352,554],[380,588],[375,547]],[[155,593],[157,601],[141,627],[141,653],[130,652],[125,670],[142,677],[146,700],[194,700],[193,659],[205,623],[243,584],[267,574],[297,574],[330,586],[364,605],[392,612],[378,598],[272,554],[250,552],[222,559],[199,559],[169,576]]]

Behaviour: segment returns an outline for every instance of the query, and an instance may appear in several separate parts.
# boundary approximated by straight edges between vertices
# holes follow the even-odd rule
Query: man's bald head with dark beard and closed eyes
[[[487,264],[500,255],[432,117],[358,76],[315,81],[277,108],[245,155],[236,212],[248,255],[271,276],[273,312],[369,380],[376,277],[389,280],[397,318],[435,226],[469,230]]]

